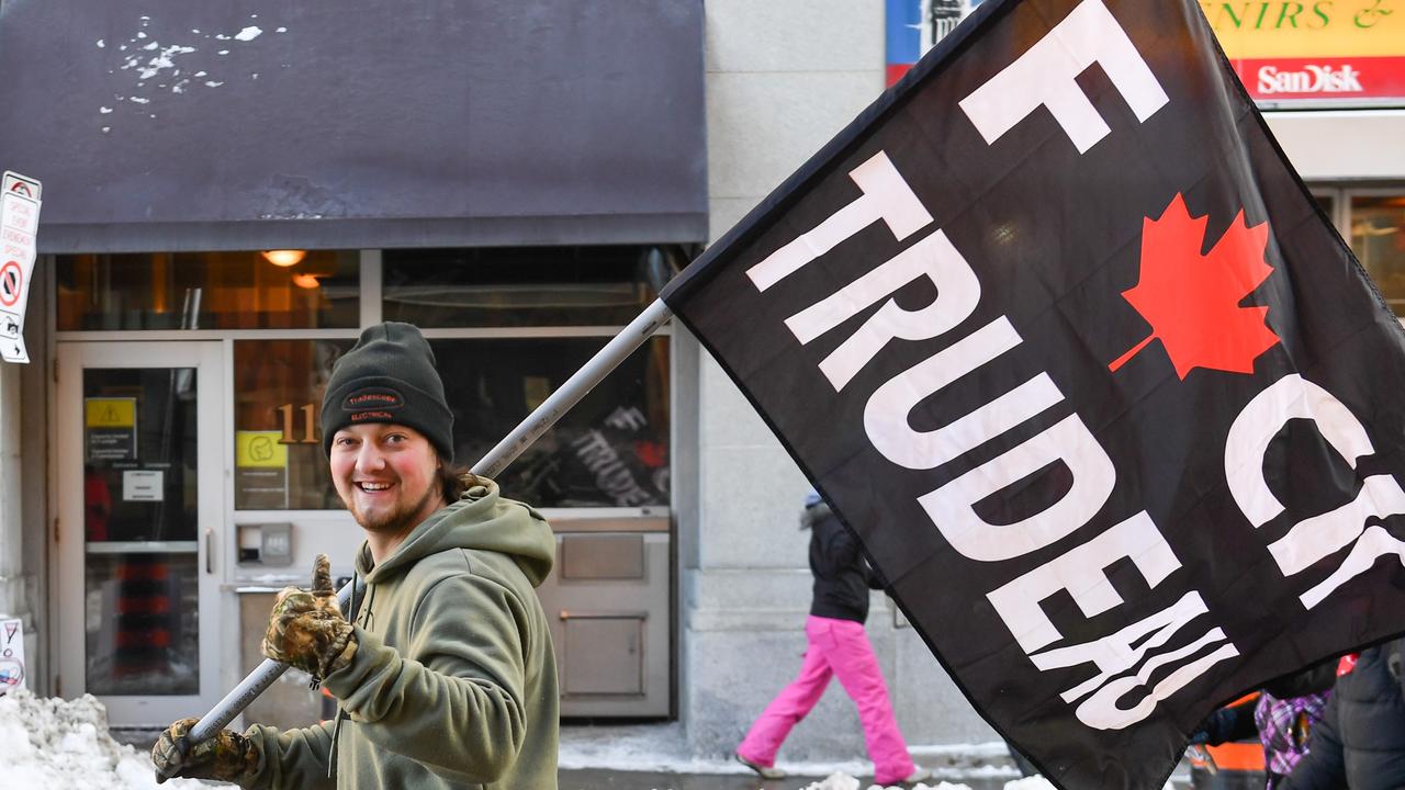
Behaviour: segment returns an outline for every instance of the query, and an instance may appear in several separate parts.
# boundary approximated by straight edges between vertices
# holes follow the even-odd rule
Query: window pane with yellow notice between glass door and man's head
[[[340,510],[318,419],[354,340],[235,343],[235,509]]]

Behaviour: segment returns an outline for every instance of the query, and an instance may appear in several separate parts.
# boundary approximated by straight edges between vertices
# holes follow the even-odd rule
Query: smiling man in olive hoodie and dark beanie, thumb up
[[[555,537],[531,507],[452,467],[454,417],[434,353],[409,323],[361,333],[322,401],[332,481],[365,531],[364,597],[341,616],[327,558],[278,593],[263,652],[337,699],[334,721],[162,734],[157,779],[250,789],[556,786],[556,662],[532,588]]]

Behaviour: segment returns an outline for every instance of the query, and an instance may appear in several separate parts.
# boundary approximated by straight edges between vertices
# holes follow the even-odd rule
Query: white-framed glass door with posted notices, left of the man
[[[58,346],[60,693],[97,696],[114,725],[219,700],[221,350]]]

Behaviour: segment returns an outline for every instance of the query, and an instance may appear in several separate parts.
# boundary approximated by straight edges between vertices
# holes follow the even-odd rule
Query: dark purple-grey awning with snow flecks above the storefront
[[[701,242],[702,3],[0,3],[41,252]]]

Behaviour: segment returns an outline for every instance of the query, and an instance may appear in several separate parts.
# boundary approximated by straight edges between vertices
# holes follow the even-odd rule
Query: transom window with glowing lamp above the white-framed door
[[[58,328],[354,328],[358,261],[354,250],[58,256]]]

